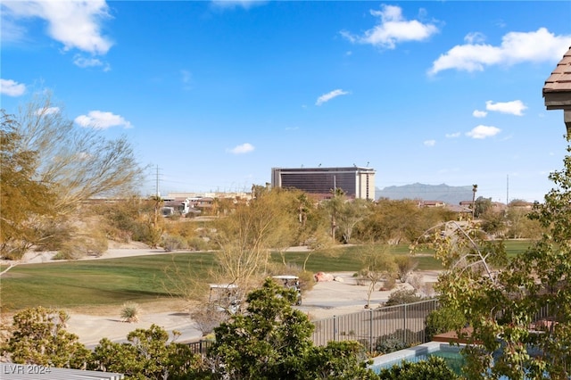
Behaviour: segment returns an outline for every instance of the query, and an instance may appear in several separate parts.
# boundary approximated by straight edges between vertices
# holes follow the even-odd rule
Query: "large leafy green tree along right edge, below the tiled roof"
[[[470,378],[571,376],[571,156],[550,180],[556,186],[530,214],[546,233],[513,260],[505,260],[502,244],[472,239],[461,229],[439,245],[449,268],[437,285],[441,302],[462,312],[473,329],[458,331],[468,340]],[[467,244],[459,244],[459,236]]]

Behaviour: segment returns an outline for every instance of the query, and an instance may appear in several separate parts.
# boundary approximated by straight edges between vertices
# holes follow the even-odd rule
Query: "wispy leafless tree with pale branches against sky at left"
[[[58,194],[59,213],[96,196],[131,193],[143,170],[125,136],[110,140],[68,120],[51,95],[36,95],[15,116],[21,150],[37,152],[37,179]]]

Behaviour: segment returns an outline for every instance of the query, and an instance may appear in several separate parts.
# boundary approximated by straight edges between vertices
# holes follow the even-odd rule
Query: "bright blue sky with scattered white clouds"
[[[542,87],[571,2],[3,1],[2,108],[50,89],[127,135],[143,194],[249,191],[273,167],[542,201],[563,113]],[[430,198],[429,194],[427,198]]]

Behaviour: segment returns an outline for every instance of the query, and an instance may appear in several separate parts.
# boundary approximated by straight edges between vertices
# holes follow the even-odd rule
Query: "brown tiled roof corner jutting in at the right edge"
[[[571,47],[545,80],[543,97],[548,110],[571,109]]]

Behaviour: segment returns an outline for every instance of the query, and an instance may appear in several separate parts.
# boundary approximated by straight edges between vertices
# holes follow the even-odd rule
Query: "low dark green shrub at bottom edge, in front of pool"
[[[417,363],[403,360],[401,364],[395,364],[391,368],[381,368],[379,377],[381,380],[456,380],[460,378],[451,368],[448,368],[444,359],[435,356]]]

